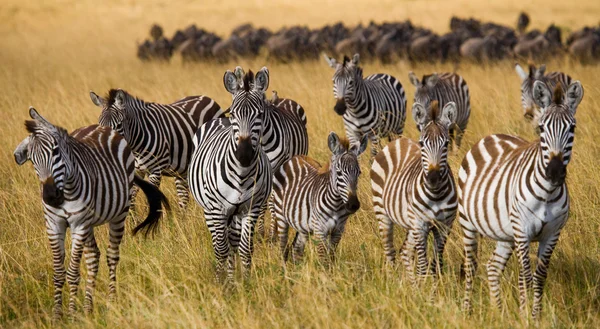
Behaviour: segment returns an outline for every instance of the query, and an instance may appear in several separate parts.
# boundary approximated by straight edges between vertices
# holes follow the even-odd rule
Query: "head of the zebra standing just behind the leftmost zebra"
[[[90,91],[92,102],[102,109],[98,122],[102,126],[111,127],[124,136],[123,122],[126,120],[125,110],[127,100],[131,96],[122,89],[111,89],[105,98]]]

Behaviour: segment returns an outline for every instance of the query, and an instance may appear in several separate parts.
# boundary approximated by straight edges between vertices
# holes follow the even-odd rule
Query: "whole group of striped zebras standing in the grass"
[[[457,217],[465,252],[464,308],[471,309],[480,236],[497,241],[487,264],[492,301],[500,306],[500,276],[516,249],[520,308],[527,310],[533,285],[532,314],[539,316],[552,251],[569,213],[566,167],[574,141],[575,112],[583,98],[579,81],[560,72],[545,74],[531,65],[521,78],[524,116],[537,126],[539,139],[485,137],[467,152],[455,175],[448,163],[453,144],[460,147],[471,106],[467,82],[455,73],[433,73],[421,80],[410,72],[416,88],[412,116],[418,141],[402,135],[406,95],[388,74],[363,78],[358,54],[342,62],[325,56],[333,74],[334,110],[342,116],[346,138],[328,137],[331,159],[321,165],[307,156],[304,108],[276,92],[267,99],[269,71],[226,71],[225,89],[232,95],[223,110],[207,96],[191,96],[172,104],[146,102],[124,90],[105,97],[90,92],[102,108],[99,125],[68,134],[30,108],[29,135],[17,146],[15,161],[33,163],[41,183],[44,217],[54,261],[54,315],[62,315],[62,288],[69,283],[69,313],[76,308],[80,262],[86,258],[88,278],[84,309],[93,310],[93,291],[100,250],[94,227],[108,223],[109,297],[116,296],[116,267],[125,218],[136,195],[146,195],[147,218],[133,233],[157,228],[163,208],[161,177],[175,178],[179,205],[186,208],[188,190],[204,210],[216,257],[217,280],[231,282],[236,254],[244,274],[252,264],[255,229],[263,234],[263,216],[271,212],[269,235],[278,239],[284,262],[290,250],[297,261],[315,236],[319,256],[330,263],[347,219],[360,208],[359,156],[371,141],[373,210],[388,263],[396,260],[393,226],[406,230],[400,250],[409,279],[418,284],[443,269],[443,251]],[[380,138],[389,144],[380,150]],[[148,175],[149,182],[143,177]],[[290,227],[296,231],[291,245]],[[72,246],[65,270],[65,235]],[[427,238],[433,234],[433,260]],[[531,242],[539,242],[538,261],[531,267]],[[416,268],[415,268],[416,263]],[[533,273],[532,273],[533,272]]]

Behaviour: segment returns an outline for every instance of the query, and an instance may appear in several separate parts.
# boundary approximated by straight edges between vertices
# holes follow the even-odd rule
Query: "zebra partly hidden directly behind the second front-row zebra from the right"
[[[415,107],[423,107],[427,113],[431,110],[431,102],[434,100],[438,101],[440,108],[444,108],[448,102],[456,104],[456,123],[448,131],[449,145],[452,149],[452,142],[456,141],[457,148],[460,147],[471,116],[471,96],[467,81],[455,73],[433,73],[424,75],[419,81],[413,72],[409,72],[408,78],[416,88],[413,111]],[[421,131],[423,126],[417,124],[417,128]]]

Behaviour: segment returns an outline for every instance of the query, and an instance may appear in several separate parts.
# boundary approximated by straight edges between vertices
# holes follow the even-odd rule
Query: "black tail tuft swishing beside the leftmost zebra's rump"
[[[133,183],[144,192],[150,208],[148,217],[133,229],[133,235],[136,235],[141,230],[145,230],[144,237],[148,237],[148,233],[154,235],[158,229],[158,221],[162,217],[162,207],[164,206],[165,210],[171,210],[167,197],[156,186],[137,175],[135,175]]]

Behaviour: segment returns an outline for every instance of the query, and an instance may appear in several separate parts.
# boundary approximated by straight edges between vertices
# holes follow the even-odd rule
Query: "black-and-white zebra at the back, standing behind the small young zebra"
[[[334,110],[344,118],[346,136],[358,143],[363,135],[372,142],[371,156],[377,154],[379,138],[391,134],[402,135],[406,120],[406,96],[402,84],[388,74],[373,74],[363,79],[359,55],[352,60],[344,56],[338,63],[327,55],[325,60],[335,69],[333,95]]]

